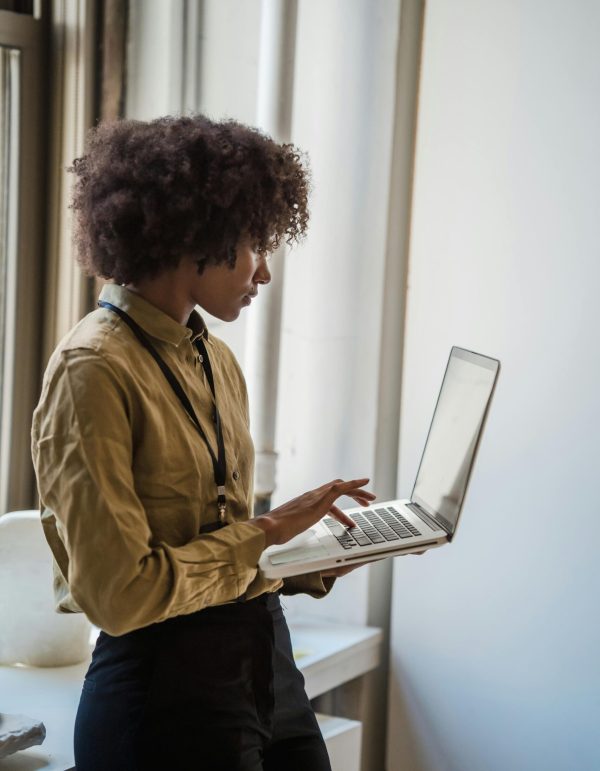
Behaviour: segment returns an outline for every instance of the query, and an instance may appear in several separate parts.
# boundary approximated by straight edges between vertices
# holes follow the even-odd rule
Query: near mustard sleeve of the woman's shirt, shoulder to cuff
[[[235,600],[265,546],[251,522],[182,546],[153,540],[132,471],[132,398],[103,357],[68,351],[34,416],[40,499],[56,520],[65,578],[112,635]]]

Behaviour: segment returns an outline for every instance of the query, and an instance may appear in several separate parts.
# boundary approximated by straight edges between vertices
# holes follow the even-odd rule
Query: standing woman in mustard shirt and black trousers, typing
[[[251,518],[246,388],[199,305],[232,321],[267,255],[308,222],[291,145],[197,116],[91,132],[71,169],[79,259],[111,279],[60,343],[33,423],[58,609],[102,630],[75,725],[78,771],[328,769],[278,594],[336,575],[257,569],[366,479]]]

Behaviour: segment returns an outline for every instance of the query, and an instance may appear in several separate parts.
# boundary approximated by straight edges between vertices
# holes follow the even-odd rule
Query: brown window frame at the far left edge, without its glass
[[[30,455],[31,413],[39,377],[44,250],[44,162],[46,56],[43,22],[0,11],[0,45],[21,52],[16,254],[9,255],[6,345],[0,424],[0,515],[30,508],[34,476]],[[12,312],[11,312],[12,311]],[[9,315],[10,313],[10,315]],[[8,405],[8,406],[7,406]]]

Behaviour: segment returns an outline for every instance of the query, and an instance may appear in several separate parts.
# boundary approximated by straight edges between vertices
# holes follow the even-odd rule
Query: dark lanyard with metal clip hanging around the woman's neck
[[[219,415],[219,410],[217,409],[215,381],[213,378],[212,367],[210,366],[210,359],[208,358],[208,351],[206,350],[206,345],[204,344],[204,340],[201,337],[198,338],[198,340],[196,340],[196,347],[198,348],[198,351],[200,353],[200,362],[206,374],[206,379],[208,380],[208,383],[210,385],[210,390],[212,391],[214,405],[215,405],[213,417],[215,421],[215,431],[217,434],[217,455],[215,455],[214,450],[211,447],[210,442],[208,441],[208,437],[204,433],[204,429],[202,428],[200,421],[198,420],[198,417],[194,411],[194,408],[192,407],[192,403],[188,399],[188,396],[186,392],[183,390],[179,380],[177,380],[177,378],[169,368],[168,364],[161,358],[160,354],[158,353],[156,348],[152,345],[152,343],[150,342],[146,333],[143,331],[140,325],[137,322],[135,322],[128,313],[126,313],[121,308],[118,308],[116,305],[113,305],[112,303],[108,303],[108,302],[105,302],[104,300],[100,300],[98,302],[98,305],[100,305],[102,308],[108,308],[109,310],[113,311],[118,316],[120,316],[126,324],[129,325],[132,332],[138,338],[140,343],[144,346],[144,348],[146,348],[146,350],[150,353],[154,361],[160,367],[163,375],[165,376],[169,385],[175,392],[175,395],[181,402],[184,410],[191,418],[192,423],[196,428],[196,431],[200,434],[200,436],[204,440],[204,444],[206,445],[208,452],[210,454],[210,459],[212,460],[213,471],[215,475],[215,483],[217,485],[217,509],[219,511],[219,523],[220,525],[224,525],[225,509],[227,506],[227,500],[225,498],[225,480],[227,478],[227,463],[225,460],[225,442],[223,440],[223,427],[221,424],[221,416]]]

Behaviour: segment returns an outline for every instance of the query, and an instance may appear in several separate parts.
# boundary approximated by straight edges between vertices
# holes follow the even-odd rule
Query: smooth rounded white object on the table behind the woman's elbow
[[[39,511],[0,517],[0,664],[77,664],[90,655],[90,631],[83,613],[54,610],[52,553]]]

